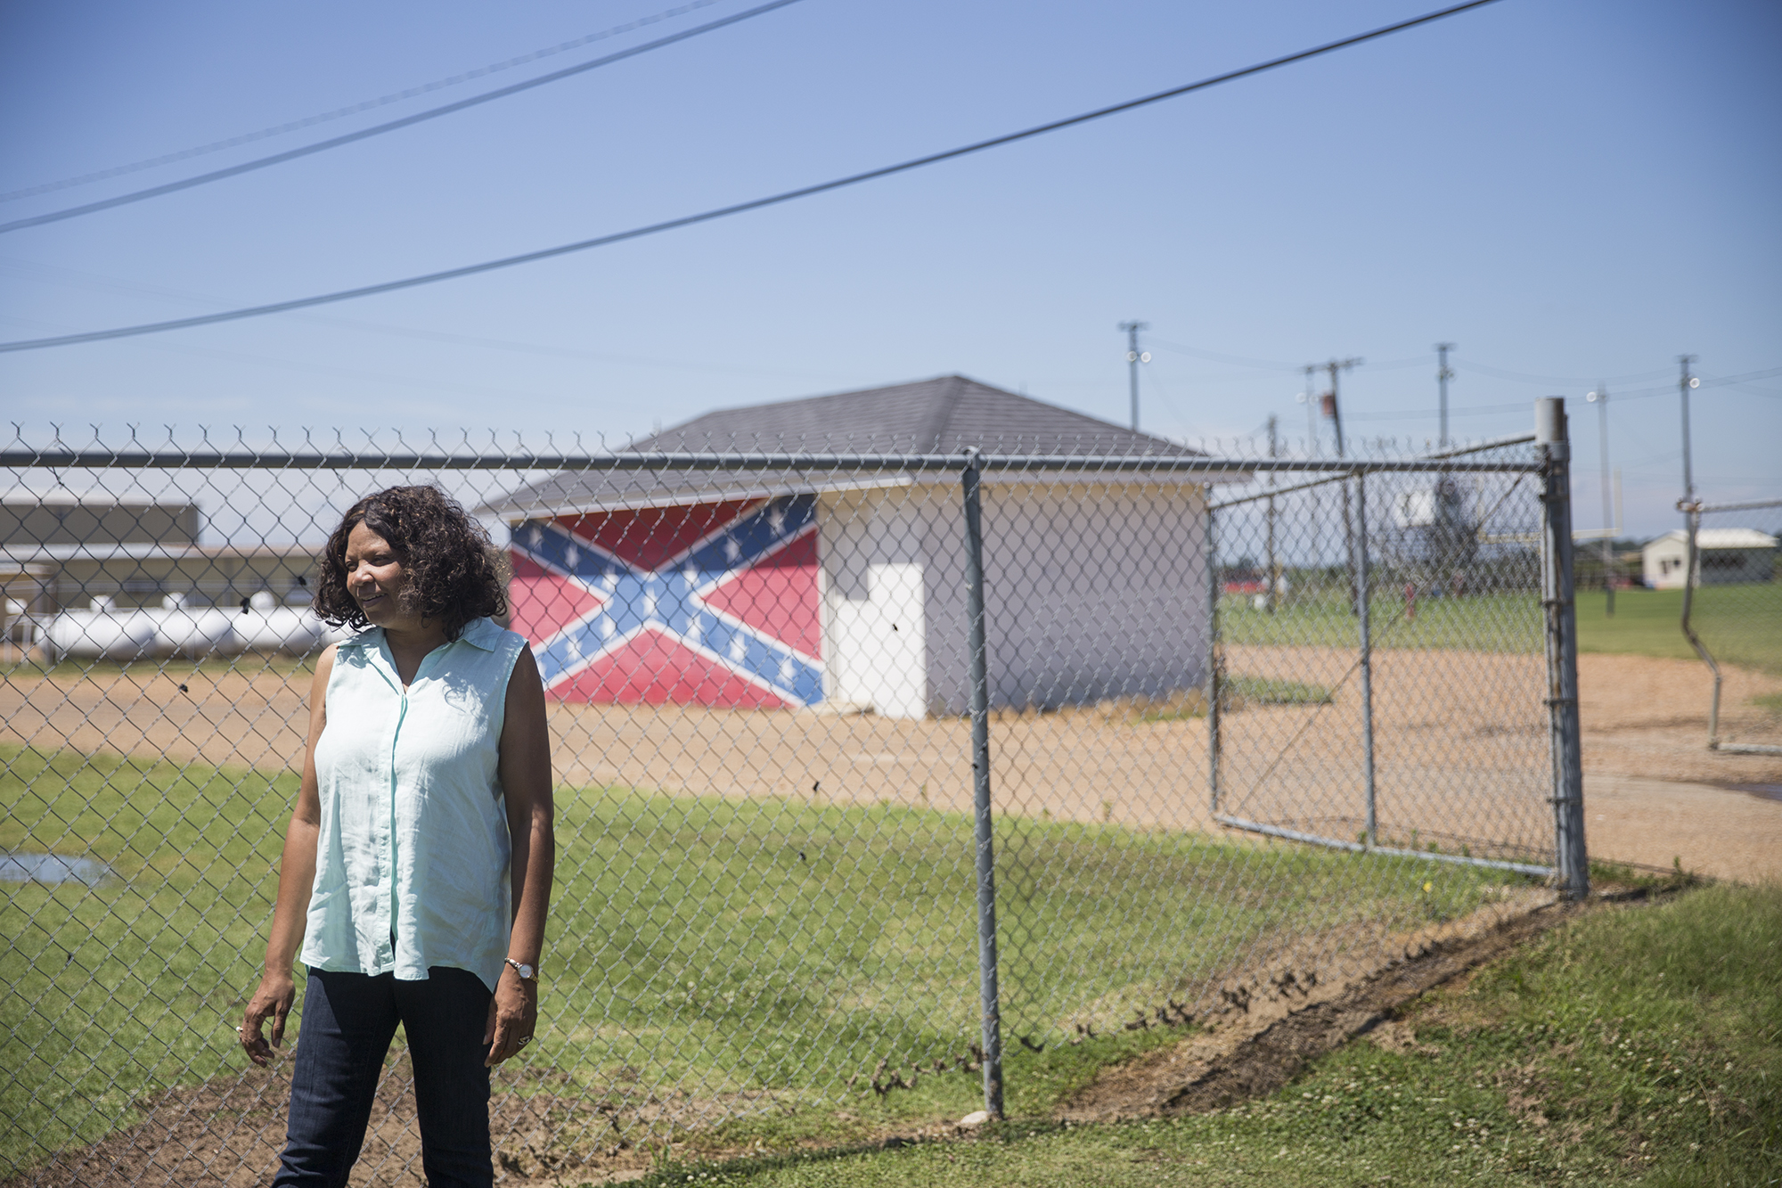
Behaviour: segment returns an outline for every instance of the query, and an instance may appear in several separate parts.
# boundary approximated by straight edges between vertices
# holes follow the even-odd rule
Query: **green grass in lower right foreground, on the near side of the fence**
[[[1782,888],[1597,912],[1402,1027],[1408,1045],[1353,1042],[1214,1115],[1059,1127],[1030,1102],[968,1142],[764,1152],[645,1184],[1782,1183]]]

